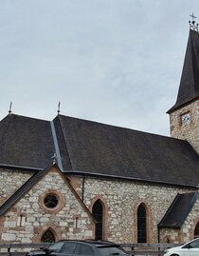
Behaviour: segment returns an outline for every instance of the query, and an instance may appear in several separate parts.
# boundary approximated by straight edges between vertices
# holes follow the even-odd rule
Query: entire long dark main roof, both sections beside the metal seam
[[[196,187],[199,155],[186,141],[58,115],[63,171]],[[55,152],[50,122],[9,114],[0,122],[0,166],[45,168]]]

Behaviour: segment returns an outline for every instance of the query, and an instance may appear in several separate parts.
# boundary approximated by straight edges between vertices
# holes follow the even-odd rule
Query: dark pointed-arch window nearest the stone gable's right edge
[[[92,210],[93,216],[96,219],[95,239],[102,240],[103,238],[103,207],[99,200],[95,202]]]

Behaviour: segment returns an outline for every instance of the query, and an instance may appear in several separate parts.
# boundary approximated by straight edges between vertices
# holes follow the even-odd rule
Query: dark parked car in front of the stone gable
[[[59,241],[43,250],[29,251],[27,256],[65,256],[65,255],[92,255],[92,256],[127,256],[127,252],[121,247],[111,242],[103,241]]]

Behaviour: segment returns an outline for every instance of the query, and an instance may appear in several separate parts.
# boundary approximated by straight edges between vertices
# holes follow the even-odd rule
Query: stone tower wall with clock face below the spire
[[[182,126],[182,115],[190,113],[190,124]],[[170,115],[171,136],[190,142],[199,154],[199,100],[173,111]]]

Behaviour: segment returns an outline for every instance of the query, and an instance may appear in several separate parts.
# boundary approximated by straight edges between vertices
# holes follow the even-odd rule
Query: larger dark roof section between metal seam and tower
[[[199,182],[199,156],[186,141],[63,115],[54,122],[62,131],[65,171],[183,186]]]

